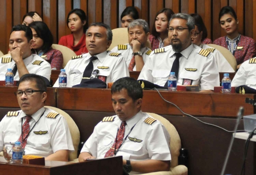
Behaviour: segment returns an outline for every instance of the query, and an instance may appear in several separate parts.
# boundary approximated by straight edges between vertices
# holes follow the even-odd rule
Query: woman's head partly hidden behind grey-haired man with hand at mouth
[[[128,27],[129,24],[135,20],[138,19],[138,11],[135,7],[129,6],[121,14],[121,27]]]

